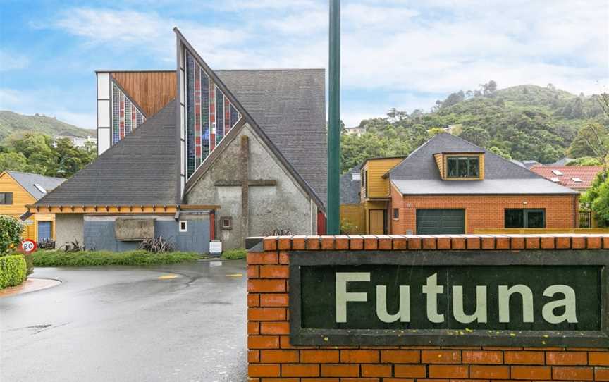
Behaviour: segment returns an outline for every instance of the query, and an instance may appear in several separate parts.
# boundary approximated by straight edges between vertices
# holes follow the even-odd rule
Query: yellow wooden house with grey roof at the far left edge
[[[27,212],[26,205],[34,204],[64,180],[17,171],[0,173],[0,215],[20,218]],[[24,222],[23,238],[35,241],[55,239],[54,214],[33,214]]]

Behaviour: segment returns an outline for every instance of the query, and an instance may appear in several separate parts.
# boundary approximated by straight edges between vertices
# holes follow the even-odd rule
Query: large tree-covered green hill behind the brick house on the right
[[[496,90],[491,81],[480,90],[454,92],[429,112],[391,109],[386,118],[362,121],[359,126],[370,134],[343,136],[343,170],[358,164],[364,153],[409,154],[437,128],[513,159],[551,163],[570,154],[578,130],[589,123],[609,126],[598,95],[578,96],[552,85]]]

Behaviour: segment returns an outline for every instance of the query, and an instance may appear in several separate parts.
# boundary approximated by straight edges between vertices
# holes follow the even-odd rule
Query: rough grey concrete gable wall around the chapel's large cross
[[[214,186],[216,180],[240,182],[240,174],[235,169],[240,164],[242,135],[250,137],[250,180],[277,182],[274,186],[250,187],[249,233],[241,232],[240,186]],[[190,189],[186,199],[188,204],[221,206],[216,211],[216,238],[223,241],[225,249],[243,247],[247,236],[269,235],[276,229],[290,230],[295,235],[316,233],[315,205],[249,125],[230,142],[209,171]],[[222,230],[220,218],[223,216],[232,218],[231,230]]]

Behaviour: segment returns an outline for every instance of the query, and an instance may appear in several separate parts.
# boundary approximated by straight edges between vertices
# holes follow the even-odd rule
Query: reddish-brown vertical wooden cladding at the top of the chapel
[[[175,71],[111,72],[110,74],[148,118],[176,98]]]

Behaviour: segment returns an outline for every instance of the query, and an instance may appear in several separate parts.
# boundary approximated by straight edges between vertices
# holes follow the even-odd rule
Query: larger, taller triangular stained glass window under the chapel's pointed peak
[[[185,52],[186,168],[190,178],[241,118],[190,52]]]

